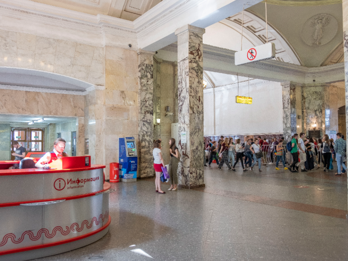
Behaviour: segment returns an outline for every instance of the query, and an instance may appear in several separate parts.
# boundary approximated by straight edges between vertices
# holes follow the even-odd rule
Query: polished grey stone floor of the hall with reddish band
[[[110,231],[38,261],[348,260],[347,176],[205,168],[205,188],[113,183]]]

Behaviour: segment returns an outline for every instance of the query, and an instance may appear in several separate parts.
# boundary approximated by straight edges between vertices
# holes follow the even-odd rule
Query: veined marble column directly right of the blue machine
[[[154,54],[138,50],[138,104],[139,104],[139,177],[154,176]]]

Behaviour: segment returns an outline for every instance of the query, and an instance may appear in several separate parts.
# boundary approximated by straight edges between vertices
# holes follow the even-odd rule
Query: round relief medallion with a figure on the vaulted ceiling
[[[301,38],[309,46],[321,46],[334,39],[337,30],[336,18],[330,14],[320,13],[304,23]]]

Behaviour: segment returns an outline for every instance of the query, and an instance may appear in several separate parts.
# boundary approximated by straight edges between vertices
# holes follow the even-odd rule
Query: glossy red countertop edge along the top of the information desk
[[[64,173],[64,172],[82,172],[97,169],[104,169],[105,165],[92,165],[87,168],[79,169],[65,169],[65,170],[47,170],[47,169],[18,169],[18,170],[0,170],[0,176],[8,175],[29,175],[29,174],[50,174],[50,173]]]

